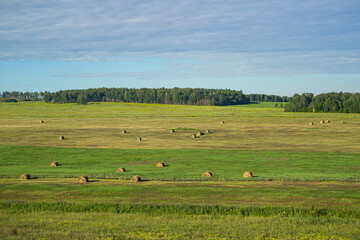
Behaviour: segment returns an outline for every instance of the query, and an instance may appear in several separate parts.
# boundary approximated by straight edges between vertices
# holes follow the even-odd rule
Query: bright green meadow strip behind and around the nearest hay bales
[[[0,178],[124,179],[157,181],[351,181],[360,179],[360,153],[221,149],[102,149],[0,145]],[[50,167],[53,161],[58,167]],[[156,168],[157,162],[166,167]],[[119,167],[126,172],[119,173]],[[212,172],[211,179],[201,174]]]

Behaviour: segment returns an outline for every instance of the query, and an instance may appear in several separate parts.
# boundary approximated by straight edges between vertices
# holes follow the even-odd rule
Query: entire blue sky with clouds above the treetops
[[[0,0],[0,92],[360,91],[359,0]]]

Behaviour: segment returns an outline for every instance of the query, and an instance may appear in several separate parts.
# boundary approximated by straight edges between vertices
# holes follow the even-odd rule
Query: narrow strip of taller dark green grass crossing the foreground
[[[109,212],[115,214],[180,214],[180,215],[236,215],[236,216],[284,216],[284,217],[330,217],[360,219],[360,211],[353,209],[287,208],[287,207],[237,207],[219,205],[155,205],[115,203],[42,203],[0,202],[1,210],[13,212]]]

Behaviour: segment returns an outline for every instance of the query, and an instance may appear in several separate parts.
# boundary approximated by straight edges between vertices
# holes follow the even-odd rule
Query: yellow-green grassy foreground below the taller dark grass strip
[[[16,213],[15,213],[16,214]],[[358,239],[359,219],[0,210],[2,239]]]

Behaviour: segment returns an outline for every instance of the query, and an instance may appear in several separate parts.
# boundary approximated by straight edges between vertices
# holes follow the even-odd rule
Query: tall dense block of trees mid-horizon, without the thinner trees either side
[[[203,88],[90,88],[45,92],[48,103],[132,102],[185,105],[237,105],[250,103],[242,91]]]

